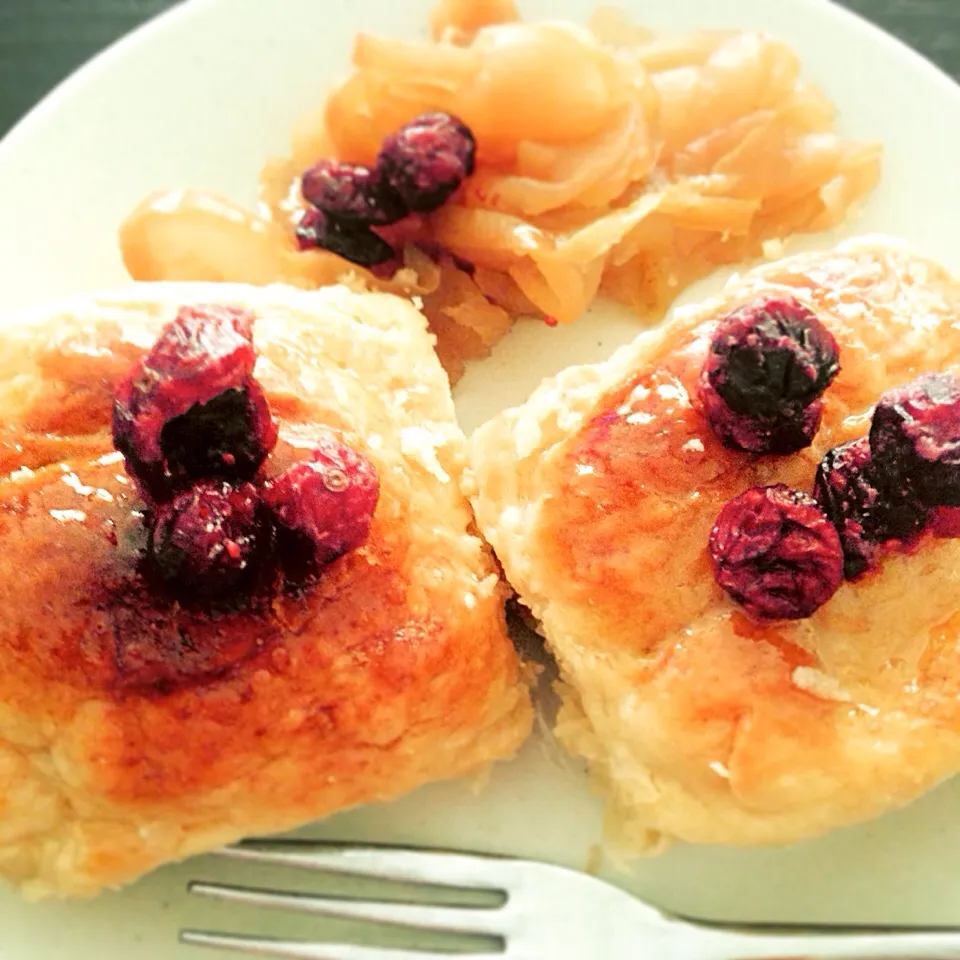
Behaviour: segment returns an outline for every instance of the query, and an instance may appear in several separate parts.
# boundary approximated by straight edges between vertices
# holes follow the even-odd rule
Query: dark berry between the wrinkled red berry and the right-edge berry
[[[877,469],[867,437],[824,455],[813,495],[840,534],[847,579],[870,569],[882,544],[919,533],[927,518],[911,489],[892,485]]]

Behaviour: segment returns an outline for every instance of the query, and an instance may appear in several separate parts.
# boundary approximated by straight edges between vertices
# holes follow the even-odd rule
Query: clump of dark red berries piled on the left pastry
[[[312,576],[367,538],[376,468],[324,434],[272,479],[277,424],[253,376],[253,316],[186,307],[114,393],[113,439],[148,511],[146,571],[180,595]]]

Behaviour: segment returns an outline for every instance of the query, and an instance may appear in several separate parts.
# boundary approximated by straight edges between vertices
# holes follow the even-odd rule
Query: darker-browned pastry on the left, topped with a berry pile
[[[114,390],[184,305],[256,317],[267,474],[324,437],[379,475],[362,545],[260,606],[168,602]],[[422,315],[344,288],[141,285],[0,349],[0,875],[86,896],[507,757],[532,720]],[[272,441],[271,441],[272,442]]]

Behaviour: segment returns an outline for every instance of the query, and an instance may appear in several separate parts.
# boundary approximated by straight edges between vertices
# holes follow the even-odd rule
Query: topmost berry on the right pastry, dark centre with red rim
[[[765,297],[717,325],[698,395],[726,445],[791,453],[813,440],[819,398],[839,369],[837,342],[810,310],[790,296]]]

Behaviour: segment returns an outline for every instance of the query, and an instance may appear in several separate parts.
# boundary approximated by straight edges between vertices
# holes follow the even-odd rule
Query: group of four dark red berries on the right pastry
[[[757,300],[724,318],[698,395],[722,443],[752,453],[807,447],[837,344],[793,298]],[[927,374],[887,391],[869,436],[828,451],[808,496],[753,487],[721,510],[709,552],[719,585],[761,619],[808,617],[877,563],[884,548],[960,505],[960,378]]]

